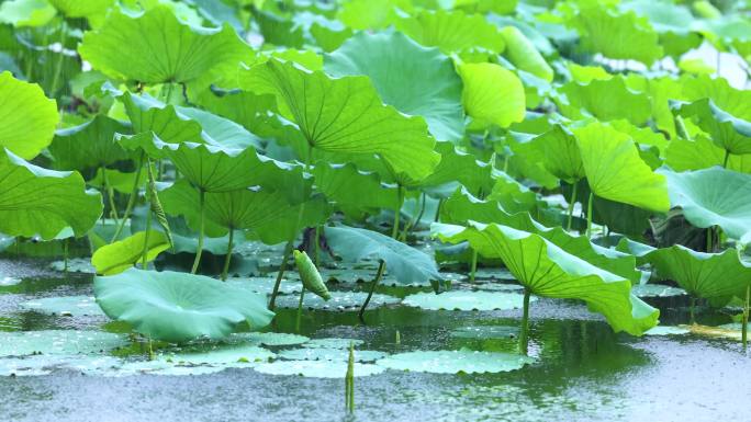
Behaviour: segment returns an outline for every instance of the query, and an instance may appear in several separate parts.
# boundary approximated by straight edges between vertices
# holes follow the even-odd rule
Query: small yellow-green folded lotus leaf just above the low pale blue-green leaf
[[[143,262],[144,243],[146,231],[103,246],[91,256],[91,264],[97,269],[97,274],[114,275]],[[169,249],[169,239],[161,231],[149,230],[148,243],[146,244],[146,262],[154,261],[159,253]]]

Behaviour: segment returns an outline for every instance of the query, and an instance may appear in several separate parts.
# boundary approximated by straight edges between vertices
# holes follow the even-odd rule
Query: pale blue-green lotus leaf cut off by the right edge
[[[683,208],[694,226],[719,226],[743,243],[751,242],[751,174],[720,167],[676,173],[659,170],[668,178],[670,204]]]

